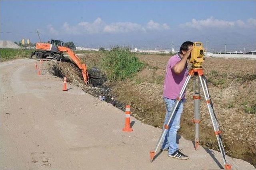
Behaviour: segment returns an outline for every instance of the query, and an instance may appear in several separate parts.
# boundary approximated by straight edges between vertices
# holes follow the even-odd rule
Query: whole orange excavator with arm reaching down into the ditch
[[[81,60],[76,56],[76,54],[68,47],[63,46],[63,42],[60,40],[51,40],[48,43],[37,42],[36,50],[32,52],[32,56],[36,56],[36,58],[46,58],[52,57],[52,59],[60,61],[64,58],[63,52],[68,53],[70,58],[76,63],[76,65],[82,70],[83,78],[85,84],[89,82],[89,76],[87,72],[86,64],[82,63]]]

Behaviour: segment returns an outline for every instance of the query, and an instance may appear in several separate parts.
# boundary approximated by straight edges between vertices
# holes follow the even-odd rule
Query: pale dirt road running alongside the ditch
[[[124,112],[50,74],[37,76],[35,60],[0,63],[1,170],[122,170],[222,168],[219,152],[179,139],[189,160],[162,152],[150,163],[159,128],[134,121],[133,132],[122,132]],[[39,62],[38,62],[39,64]],[[255,169],[227,157],[235,169]]]

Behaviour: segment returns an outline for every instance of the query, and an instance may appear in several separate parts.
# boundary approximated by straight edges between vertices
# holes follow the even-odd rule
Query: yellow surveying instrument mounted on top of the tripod
[[[204,48],[202,42],[194,42],[189,62],[192,63],[192,68],[202,68],[202,62],[204,62]]]

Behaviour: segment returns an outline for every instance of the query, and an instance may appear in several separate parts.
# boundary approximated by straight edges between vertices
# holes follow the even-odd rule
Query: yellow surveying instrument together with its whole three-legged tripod
[[[201,88],[204,92],[204,98],[206,100],[208,112],[210,114],[210,118],[212,121],[212,126],[214,128],[214,134],[216,135],[218,146],[220,148],[223,162],[225,164],[225,169],[231,169],[231,164],[227,164],[227,162],[226,162],[225,151],[224,151],[224,147],[223,147],[221,135],[220,135],[220,133],[222,131],[219,130],[219,124],[218,124],[217,118],[214,114],[213,104],[212,104],[212,101],[210,98],[207,80],[204,77],[204,73],[203,73],[203,68],[202,68],[202,62],[204,61],[203,56],[204,56],[204,48],[203,48],[202,42],[194,42],[193,49],[191,51],[191,58],[189,60],[189,62],[192,63],[192,66],[188,72],[188,77],[186,78],[185,83],[182,86],[179,96],[176,98],[175,105],[172,108],[172,111],[171,111],[170,117],[167,121],[167,124],[164,125],[162,134],[161,134],[160,138],[158,139],[156,147],[153,151],[150,151],[151,162],[153,162],[156,151],[158,150],[158,147],[160,146],[162,139],[165,137],[164,134],[165,134],[166,130],[168,130],[168,128],[169,128],[169,124],[172,120],[174,112],[175,112],[176,108],[178,107],[178,104],[182,98],[182,95],[184,94],[184,92],[186,90],[186,87],[188,86],[188,82],[189,82],[190,78],[193,76],[193,81],[194,81],[194,96],[193,96],[194,119],[192,119],[191,121],[194,122],[194,124],[195,124],[195,149],[197,150],[198,146],[199,146],[199,123],[200,123],[199,112],[200,112],[200,98],[201,98],[200,97],[200,85],[201,85]],[[198,80],[196,80],[196,79],[198,79]]]

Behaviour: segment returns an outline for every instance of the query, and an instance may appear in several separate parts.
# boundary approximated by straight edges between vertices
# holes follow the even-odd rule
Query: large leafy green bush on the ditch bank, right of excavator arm
[[[100,61],[100,67],[109,80],[125,80],[132,78],[138,71],[144,68],[135,54],[126,48],[114,47]]]

